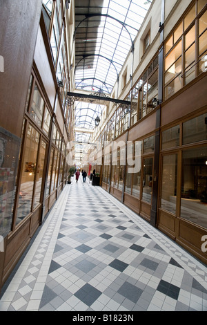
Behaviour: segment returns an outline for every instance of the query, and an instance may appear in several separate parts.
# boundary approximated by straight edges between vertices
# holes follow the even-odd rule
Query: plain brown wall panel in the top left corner
[[[26,95],[41,14],[41,0],[1,1],[0,124],[21,137]]]

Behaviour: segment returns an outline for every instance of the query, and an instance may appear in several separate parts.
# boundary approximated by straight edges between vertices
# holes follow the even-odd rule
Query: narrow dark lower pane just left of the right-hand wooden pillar
[[[144,159],[142,199],[151,203],[152,197],[152,158]]]

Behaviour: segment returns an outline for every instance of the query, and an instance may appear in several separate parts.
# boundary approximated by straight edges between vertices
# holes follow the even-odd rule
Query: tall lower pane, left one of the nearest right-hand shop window
[[[163,157],[161,175],[161,208],[176,214],[177,154]]]

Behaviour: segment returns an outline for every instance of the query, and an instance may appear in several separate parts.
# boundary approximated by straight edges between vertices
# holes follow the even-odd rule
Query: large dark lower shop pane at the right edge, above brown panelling
[[[207,147],[182,153],[181,218],[207,228]]]

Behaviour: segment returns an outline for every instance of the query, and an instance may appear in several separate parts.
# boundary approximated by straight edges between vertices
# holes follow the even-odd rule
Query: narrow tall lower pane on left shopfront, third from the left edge
[[[35,207],[40,202],[41,196],[41,183],[43,179],[43,168],[44,161],[46,156],[46,142],[41,141],[41,147],[39,149],[39,163],[37,166],[37,175],[36,175],[36,187],[34,193],[34,206]]]

